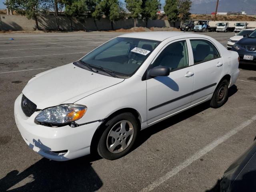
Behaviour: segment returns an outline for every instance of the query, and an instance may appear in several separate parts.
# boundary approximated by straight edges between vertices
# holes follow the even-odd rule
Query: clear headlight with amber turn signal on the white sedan
[[[67,124],[82,118],[86,111],[87,107],[83,105],[63,104],[42,110],[36,120],[40,123]]]

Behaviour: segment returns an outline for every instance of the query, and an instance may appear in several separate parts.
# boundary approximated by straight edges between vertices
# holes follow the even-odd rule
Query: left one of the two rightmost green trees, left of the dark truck
[[[168,17],[168,20],[175,22],[178,20],[178,0],[166,0],[164,6],[164,12]]]

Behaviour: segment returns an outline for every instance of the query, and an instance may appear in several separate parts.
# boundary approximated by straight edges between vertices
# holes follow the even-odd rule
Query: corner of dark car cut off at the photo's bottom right
[[[224,172],[220,192],[256,191],[256,141]]]

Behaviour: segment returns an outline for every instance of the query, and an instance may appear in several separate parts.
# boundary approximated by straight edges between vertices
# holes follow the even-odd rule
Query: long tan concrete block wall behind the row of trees
[[[111,30],[111,22],[106,18],[94,20],[86,18],[82,23],[77,18],[72,18],[74,30]],[[170,27],[180,26],[180,22],[169,22],[168,20],[148,20],[148,27]],[[56,18],[54,16],[39,16],[38,26],[40,30],[57,30]],[[113,22],[114,29],[128,29],[134,26],[133,19],[123,19]],[[137,19],[136,26],[146,27],[146,20]],[[36,22],[33,19],[28,20],[25,16],[20,15],[0,15],[0,30],[35,30]],[[70,19],[66,16],[60,16],[60,29],[70,30]]]

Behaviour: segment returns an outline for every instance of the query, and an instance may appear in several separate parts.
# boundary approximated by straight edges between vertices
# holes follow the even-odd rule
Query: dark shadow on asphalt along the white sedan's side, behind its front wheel
[[[228,98],[230,98],[232,95],[234,95],[238,91],[236,85],[233,85],[228,90]],[[225,105],[225,104],[224,104]],[[135,150],[139,146],[141,146],[148,138],[150,138],[152,135],[170,127],[178,122],[181,122],[187,118],[190,118],[200,112],[203,112],[204,110],[210,108],[210,102],[204,102],[198,106],[195,106],[193,108],[190,108],[184,112],[181,112],[179,114],[176,114],[166,120],[163,120],[153,126],[150,126],[149,128],[146,128],[142,130],[139,134],[139,139],[136,140],[136,143],[134,144],[132,150]]]

